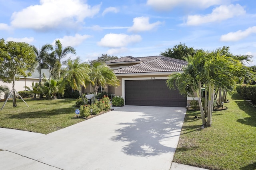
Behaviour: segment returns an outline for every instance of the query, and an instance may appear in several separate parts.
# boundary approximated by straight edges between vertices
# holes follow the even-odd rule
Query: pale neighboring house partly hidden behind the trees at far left
[[[42,69],[41,70],[42,73],[42,79],[43,79],[43,73],[45,74],[46,78],[49,78],[50,74],[49,74],[49,70],[48,69]],[[32,83],[33,82],[39,82],[39,72],[37,70],[35,70],[33,73],[31,73],[32,75],[30,77],[20,77],[19,80],[15,81],[15,90],[16,91],[25,91],[27,89],[25,89],[25,86],[30,87],[32,89]],[[11,83],[4,83],[2,81],[2,79],[0,79],[0,85],[6,85],[7,87],[9,87],[10,91],[12,90],[12,84]],[[9,93],[5,93],[5,94],[1,94],[0,95],[0,99],[6,99],[8,97]]]

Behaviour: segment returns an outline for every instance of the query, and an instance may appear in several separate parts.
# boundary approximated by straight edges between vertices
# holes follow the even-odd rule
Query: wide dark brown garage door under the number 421
[[[186,97],[170,90],[166,80],[126,80],[125,104],[138,106],[186,107]]]

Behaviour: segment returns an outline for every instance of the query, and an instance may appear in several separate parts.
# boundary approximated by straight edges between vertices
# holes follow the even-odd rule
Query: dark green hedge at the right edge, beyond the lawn
[[[244,99],[251,100],[253,104],[256,104],[256,85],[238,85],[236,91]]]

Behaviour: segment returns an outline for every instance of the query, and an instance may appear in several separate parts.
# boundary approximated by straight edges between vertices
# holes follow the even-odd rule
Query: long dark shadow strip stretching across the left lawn
[[[18,114],[6,114],[6,116],[8,119],[46,118],[54,115],[67,114],[67,109],[70,108],[52,109],[51,111],[22,112]]]

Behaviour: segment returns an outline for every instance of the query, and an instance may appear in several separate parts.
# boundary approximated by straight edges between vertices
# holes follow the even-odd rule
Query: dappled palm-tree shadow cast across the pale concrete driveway
[[[122,152],[128,155],[148,157],[174,153],[185,113],[180,108],[170,107],[152,107],[150,111],[138,112],[140,117],[132,123],[119,123],[127,126],[117,129],[118,135],[111,140],[128,142],[122,147]]]

